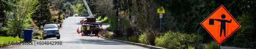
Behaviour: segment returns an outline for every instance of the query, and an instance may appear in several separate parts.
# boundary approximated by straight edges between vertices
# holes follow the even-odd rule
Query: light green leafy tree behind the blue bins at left
[[[14,12],[10,12],[8,17],[9,32],[14,33],[14,37],[21,37],[22,30],[31,26],[31,17],[39,8],[37,0],[21,0],[17,2]],[[14,9],[13,9],[14,10]],[[13,14],[13,15],[12,15]]]

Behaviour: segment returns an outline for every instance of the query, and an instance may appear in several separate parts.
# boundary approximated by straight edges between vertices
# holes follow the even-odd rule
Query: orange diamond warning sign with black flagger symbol
[[[219,45],[241,27],[223,5],[204,19],[201,25]]]

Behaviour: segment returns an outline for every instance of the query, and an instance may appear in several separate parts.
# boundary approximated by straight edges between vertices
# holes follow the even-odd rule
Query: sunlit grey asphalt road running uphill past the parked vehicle
[[[124,44],[112,40],[105,40],[103,38],[97,38],[96,36],[81,36],[76,33],[77,28],[81,27],[79,20],[84,17],[68,17],[63,22],[63,27],[59,29],[60,39],[48,38],[39,41],[61,41],[61,45],[10,45],[3,48],[22,48],[22,49],[144,49],[144,47]],[[79,29],[80,30],[80,29]]]

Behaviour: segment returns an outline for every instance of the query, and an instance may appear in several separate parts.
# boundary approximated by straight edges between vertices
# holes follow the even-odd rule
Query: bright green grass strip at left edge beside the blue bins
[[[2,43],[8,43],[10,42],[18,42],[18,41],[23,41],[24,39],[20,39],[20,38],[14,38],[14,37],[0,37],[0,44]]]

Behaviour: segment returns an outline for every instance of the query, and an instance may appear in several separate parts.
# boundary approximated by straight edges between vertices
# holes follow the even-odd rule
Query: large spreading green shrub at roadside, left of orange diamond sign
[[[185,48],[188,45],[199,45],[202,39],[200,35],[168,31],[164,36],[157,37],[155,43],[165,48]]]

